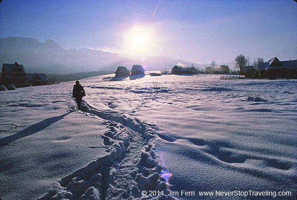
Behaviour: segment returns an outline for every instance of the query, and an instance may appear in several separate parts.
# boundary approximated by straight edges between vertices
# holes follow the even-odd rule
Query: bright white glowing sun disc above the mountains
[[[149,26],[135,25],[124,31],[124,52],[132,55],[152,55],[156,48],[156,35]]]

